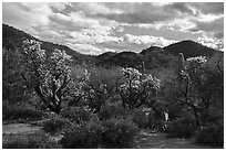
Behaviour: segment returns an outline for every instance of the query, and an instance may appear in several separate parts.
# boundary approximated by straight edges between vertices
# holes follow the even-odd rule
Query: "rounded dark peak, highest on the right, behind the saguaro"
[[[178,55],[179,53],[183,53],[185,58],[199,55],[212,56],[216,52],[213,48],[209,48],[189,40],[174,43],[163,48],[173,55]]]

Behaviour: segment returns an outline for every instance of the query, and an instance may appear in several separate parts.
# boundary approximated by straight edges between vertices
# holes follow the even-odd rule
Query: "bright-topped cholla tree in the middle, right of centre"
[[[160,80],[151,74],[141,74],[135,68],[123,68],[122,72],[124,83],[119,91],[124,108],[141,107],[160,88]]]

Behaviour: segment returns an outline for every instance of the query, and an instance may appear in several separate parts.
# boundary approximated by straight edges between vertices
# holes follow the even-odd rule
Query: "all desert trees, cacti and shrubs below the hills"
[[[47,119],[43,133],[3,134],[3,148],[136,148],[142,129],[224,145],[223,54],[104,68],[73,64],[65,52],[40,45],[3,48],[3,120]],[[61,139],[51,141],[54,134]]]

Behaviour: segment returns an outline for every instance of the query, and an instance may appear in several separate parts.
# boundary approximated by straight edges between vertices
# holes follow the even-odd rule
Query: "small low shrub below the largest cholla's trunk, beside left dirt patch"
[[[71,122],[69,119],[61,118],[61,117],[54,117],[43,122],[43,130],[45,132],[53,134],[70,126],[71,126]]]

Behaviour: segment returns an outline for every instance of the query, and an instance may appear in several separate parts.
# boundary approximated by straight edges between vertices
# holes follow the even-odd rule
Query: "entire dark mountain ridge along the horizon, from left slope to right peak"
[[[32,35],[2,24],[2,46],[4,48],[16,48],[20,47],[23,40],[37,40]],[[142,62],[145,63],[145,68],[156,68],[156,67],[168,67],[175,64],[176,57],[179,53],[183,53],[185,58],[206,55],[212,56],[216,51],[204,46],[199,43],[193,41],[182,41],[175,44],[171,44],[165,47],[151,46],[141,51],[141,53],[134,52],[121,52],[113,53],[106,52],[97,56],[81,54],[76,51],[71,50],[68,46],[53,44],[51,42],[42,42],[42,48],[47,50],[47,53],[51,53],[54,48],[64,50],[69,55],[72,56],[73,63],[76,64],[92,64],[101,66],[141,66]]]

